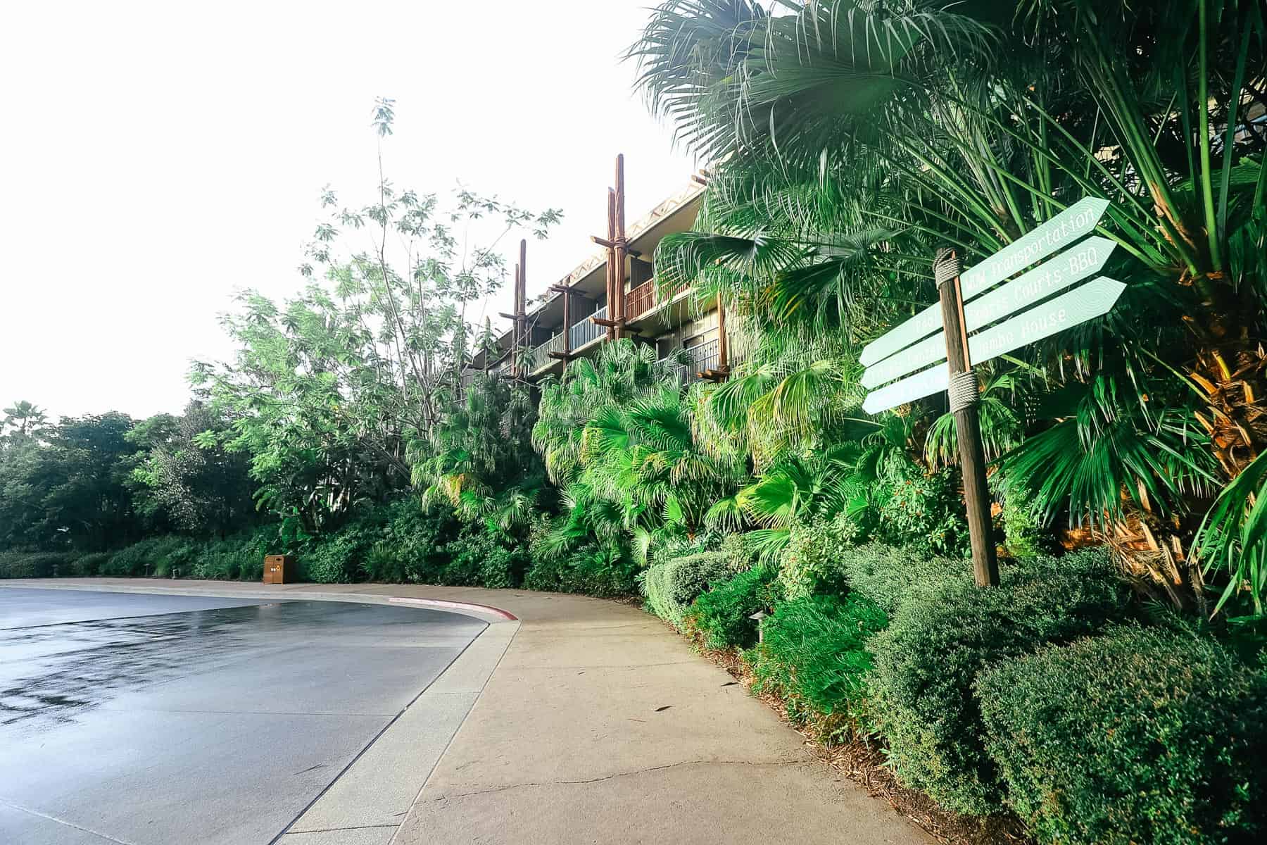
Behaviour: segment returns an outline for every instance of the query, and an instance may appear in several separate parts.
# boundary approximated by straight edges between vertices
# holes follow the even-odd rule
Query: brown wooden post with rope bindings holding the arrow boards
[[[990,524],[986,455],[981,443],[981,419],[977,416],[977,376],[968,357],[959,270],[959,258],[953,250],[938,252],[933,272],[941,298],[941,324],[945,327],[946,362],[950,367],[950,410],[954,413],[955,435],[959,440],[959,469],[963,474],[972,540],[972,570],[978,587],[997,587],[998,561]]]

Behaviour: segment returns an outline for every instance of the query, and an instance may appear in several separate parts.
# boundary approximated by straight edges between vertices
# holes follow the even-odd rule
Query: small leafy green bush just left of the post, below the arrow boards
[[[892,461],[872,493],[877,537],[921,555],[965,557],[968,522],[955,478],[948,469],[927,474],[917,464]]]

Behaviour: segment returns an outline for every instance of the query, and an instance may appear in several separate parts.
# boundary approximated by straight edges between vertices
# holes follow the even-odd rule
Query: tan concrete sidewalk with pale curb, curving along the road
[[[407,711],[400,736],[370,746],[360,770],[353,766],[336,780],[283,837],[285,845],[934,841],[815,760],[802,737],[742,685],[634,607],[551,593],[398,584],[4,584],[427,599],[518,617],[509,622],[484,613],[488,630],[422,697],[474,701],[447,749],[412,749]],[[407,812],[366,812],[383,792],[395,794],[390,806],[408,803]]]

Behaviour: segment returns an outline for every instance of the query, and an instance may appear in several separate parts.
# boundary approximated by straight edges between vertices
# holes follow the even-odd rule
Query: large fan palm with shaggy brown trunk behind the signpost
[[[856,346],[935,302],[933,247],[972,264],[1081,196],[1110,200],[1100,234],[1119,247],[1109,272],[1129,283],[1116,314],[981,371],[1014,378],[1038,405],[1114,374],[1112,408],[1100,410],[1114,424],[1033,419],[1031,431],[1068,423],[1088,440],[1049,451],[1058,467],[1025,460],[1054,442],[1030,440],[1002,471],[1029,473],[1017,481],[1074,522],[1138,523],[1150,552],[1199,583],[1176,545],[1191,536],[1194,493],[1267,443],[1267,355],[1254,340],[1267,170],[1264,138],[1243,118],[1264,99],[1261,4],[774,8],[670,0],[631,49],[653,109],[716,162],[701,231],[666,238],[658,265],[758,319],[836,328]],[[1128,432],[1161,448],[1156,460],[1119,451]],[[1104,471],[1102,459],[1076,466],[1095,454],[1116,456],[1116,474],[1033,484]],[[1173,495],[1154,500],[1161,492]],[[1154,579],[1173,581],[1166,569]]]

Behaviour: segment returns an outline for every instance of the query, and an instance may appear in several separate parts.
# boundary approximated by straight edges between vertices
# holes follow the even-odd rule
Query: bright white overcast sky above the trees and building
[[[232,293],[303,285],[319,189],[370,199],[380,95],[399,187],[564,209],[528,242],[538,295],[606,229],[617,152],[630,220],[689,180],[618,61],[647,5],[5,4],[0,407],[180,412],[189,360],[231,353]]]

